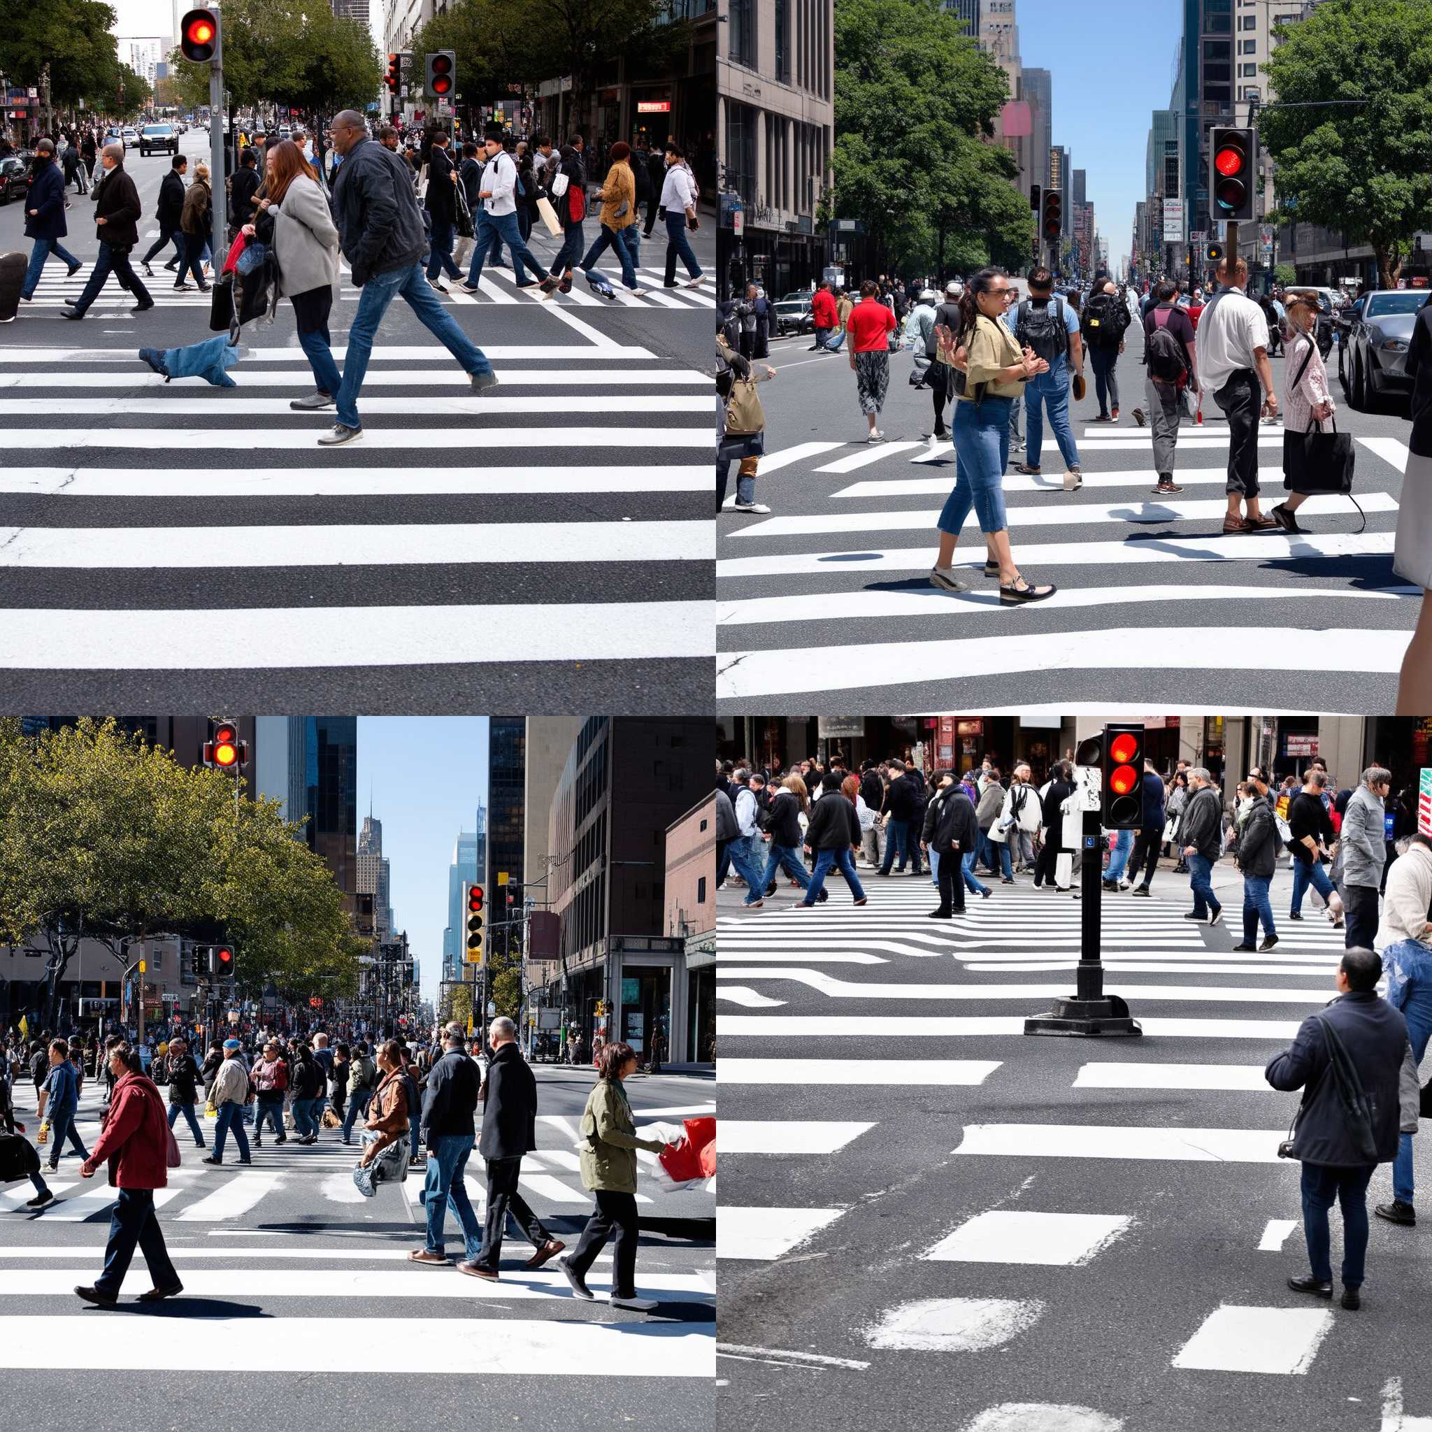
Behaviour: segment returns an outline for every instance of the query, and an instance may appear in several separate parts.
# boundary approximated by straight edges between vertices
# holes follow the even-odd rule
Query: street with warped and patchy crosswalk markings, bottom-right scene
[[[1307,1272],[1297,1106],[1266,1061],[1335,995],[1342,932],[1309,896],[1280,942],[1104,894],[1106,990],[1141,1038],[1025,1037],[1071,994],[1080,905],[992,881],[951,924],[919,879],[861,866],[812,911],[719,894],[722,1418],[792,1432],[1413,1432],[1432,1426],[1419,1229],[1372,1219],[1363,1306],[1290,1292]],[[981,876],[984,878],[984,876]],[[1418,1177],[1432,1153],[1418,1147]],[[1390,1197],[1378,1169],[1369,1204]],[[1333,1267],[1340,1257],[1333,1214]]]

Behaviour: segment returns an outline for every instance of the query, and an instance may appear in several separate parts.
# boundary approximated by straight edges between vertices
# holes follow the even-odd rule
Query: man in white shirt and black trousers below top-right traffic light
[[[1243,292],[1247,276],[1243,259],[1224,259],[1219,265],[1220,288],[1204,308],[1197,331],[1200,391],[1211,394],[1229,420],[1226,533],[1267,531],[1277,526],[1259,511],[1257,420],[1277,414],[1277,397],[1267,361],[1267,319]],[[1240,505],[1247,508],[1247,516],[1239,511]]]

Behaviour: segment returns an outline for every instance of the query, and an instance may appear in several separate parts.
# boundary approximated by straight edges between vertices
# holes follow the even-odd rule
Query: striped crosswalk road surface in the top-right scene
[[[760,388],[768,455],[756,480],[756,501],[772,514],[727,511],[717,521],[720,709],[756,702],[795,715],[815,697],[856,710],[991,702],[1107,710],[1150,700],[1392,710],[1421,604],[1392,571],[1406,402],[1355,412],[1333,381],[1337,428],[1356,438],[1365,531],[1352,503],[1319,497],[1300,513],[1306,536],[1226,537],[1221,412],[1206,407],[1201,428],[1183,425],[1174,474],[1183,491],[1156,498],[1150,430],[1133,420],[1147,405],[1137,325],[1126,342],[1118,424],[1091,425],[1098,402],[1087,364],[1087,395],[1071,400],[1081,491],[1063,490],[1047,422],[1038,477],[1017,474],[1025,454],[1010,454],[1014,557],[1031,583],[1060,590],[1001,607],[994,580],[981,576],[974,517],[955,557],[974,590],[929,586],[955,455],[927,438],[931,397],[908,385],[911,355],[891,357],[888,442],[868,447],[846,355],[809,352],[809,337],[779,341],[778,377]],[[1273,381],[1282,400],[1282,357]],[[1266,510],[1283,494],[1282,428],[1260,431]]]

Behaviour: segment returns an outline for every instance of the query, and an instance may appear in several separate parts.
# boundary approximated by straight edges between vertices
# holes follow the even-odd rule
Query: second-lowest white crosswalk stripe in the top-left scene
[[[382,566],[392,561],[394,550],[401,551],[402,561],[412,566],[703,561],[710,558],[710,523],[0,527],[0,569]]]

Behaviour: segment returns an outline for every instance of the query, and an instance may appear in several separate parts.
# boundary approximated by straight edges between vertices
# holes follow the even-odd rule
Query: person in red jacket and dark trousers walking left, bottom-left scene
[[[159,1090],[140,1073],[139,1055],[127,1040],[109,1051],[115,1075],[115,1097],[95,1151],[80,1164],[80,1177],[93,1179],[102,1158],[109,1160],[110,1187],[119,1190],[109,1216],[109,1244],[105,1272],[93,1287],[76,1287],[77,1297],[99,1307],[113,1307],[137,1247],[149,1264],[155,1286],[140,1293],[142,1303],[158,1303],[183,1292],[183,1283],[169,1262],[165,1236],[155,1217],[155,1189],[169,1183],[169,1124]]]

